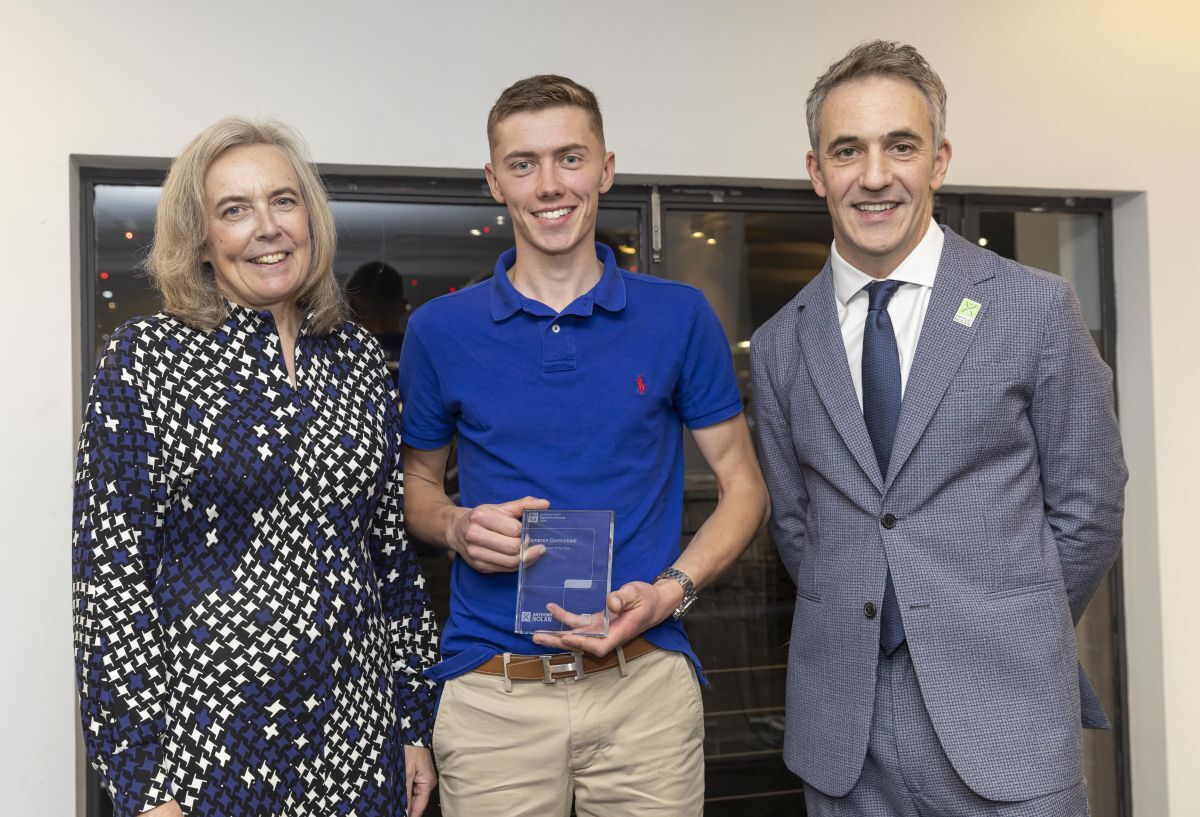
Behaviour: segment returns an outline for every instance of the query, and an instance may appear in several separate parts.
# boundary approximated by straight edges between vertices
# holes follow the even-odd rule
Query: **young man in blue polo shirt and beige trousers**
[[[401,358],[409,530],[457,554],[433,747],[448,817],[698,815],[703,713],[679,618],[743,552],[767,493],[720,323],[595,244],[612,186],[595,97],[563,77],[488,116],[516,248],[418,310]],[[683,426],[719,501],[686,551]],[[443,488],[458,439],[461,506]],[[610,633],[512,632],[521,513],[616,512]]]

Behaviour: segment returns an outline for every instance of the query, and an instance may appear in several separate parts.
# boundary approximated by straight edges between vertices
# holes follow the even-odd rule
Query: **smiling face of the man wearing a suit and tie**
[[[934,145],[929,107],[904,79],[866,77],[836,86],[821,108],[818,150],[806,162],[833,216],[838,252],[886,278],[929,229],[950,143]]]

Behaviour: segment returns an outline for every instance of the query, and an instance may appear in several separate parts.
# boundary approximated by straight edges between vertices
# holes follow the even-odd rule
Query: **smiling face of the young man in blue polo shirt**
[[[517,258],[530,254],[595,262],[600,193],[612,187],[616,158],[576,106],[516,113],[496,125],[487,185],[509,209]]]

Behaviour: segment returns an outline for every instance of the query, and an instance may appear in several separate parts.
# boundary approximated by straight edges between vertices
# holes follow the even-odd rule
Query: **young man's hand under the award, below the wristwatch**
[[[607,655],[665,621],[682,600],[683,588],[678,582],[662,581],[655,584],[630,582],[608,594],[608,635],[604,638],[578,635],[578,630],[593,626],[592,619],[569,613],[558,605],[547,605],[546,608],[556,619],[575,627],[576,632],[539,632],[533,641],[551,649]]]

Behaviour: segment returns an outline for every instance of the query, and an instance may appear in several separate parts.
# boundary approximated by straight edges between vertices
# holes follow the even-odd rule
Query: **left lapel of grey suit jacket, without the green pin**
[[[800,352],[817,395],[829,413],[829,419],[854,455],[859,467],[880,491],[883,476],[875,459],[871,437],[866,433],[863,409],[854,394],[854,382],[846,361],[846,344],[838,324],[838,304],[833,289],[833,270],[826,262],[821,275],[806,288],[808,298],[800,299],[803,313],[797,322]]]

